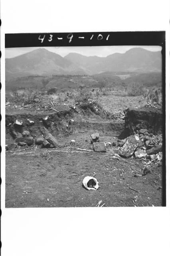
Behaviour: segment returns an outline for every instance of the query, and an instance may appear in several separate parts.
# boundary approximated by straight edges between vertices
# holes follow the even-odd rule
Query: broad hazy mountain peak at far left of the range
[[[6,59],[6,80],[30,75],[85,74],[85,71],[59,54],[37,49]]]

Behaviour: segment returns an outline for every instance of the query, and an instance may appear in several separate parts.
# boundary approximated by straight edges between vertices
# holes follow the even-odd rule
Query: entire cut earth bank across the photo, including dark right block
[[[140,129],[148,129],[153,134],[162,133],[163,116],[161,110],[127,109],[125,121],[109,118],[104,112],[95,114],[91,110],[78,112],[72,108],[62,108],[56,111],[6,113],[6,144],[22,136],[23,131],[29,131],[36,138],[47,130],[59,141],[65,141],[69,136],[83,136],[99,132],[102,136],[126,138]],[[84,139],[84,138],[82,138]]]

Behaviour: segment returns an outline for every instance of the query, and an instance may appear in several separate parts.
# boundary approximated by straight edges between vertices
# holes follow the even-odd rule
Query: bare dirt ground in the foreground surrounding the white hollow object
[[[92,149],[89,133],[77,132],[63,143],[67,145],[71,139],[76,139],[75,147]],[[111,139],[101,135],[101,141]],[[6,207],[95,207],[100,200],[103,207],[161,206],[162,167],[134,177],[142,175],[142,160],[114,159],[116,152],[114,146],[101,153],[79,151],[70,145],[7,151]],[[86,190],[83,178],[94,173],[99,189]]]

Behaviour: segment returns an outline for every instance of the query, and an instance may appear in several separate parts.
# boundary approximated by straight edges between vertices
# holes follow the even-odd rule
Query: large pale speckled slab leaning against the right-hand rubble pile
[[[128,158],[132,156],[134,151],[136,150],[137,146],[139,144],[139,138],[136,135],[130,135],[127,138],[127,141],[121,148],[121,152],[119,153],[120,156]]]

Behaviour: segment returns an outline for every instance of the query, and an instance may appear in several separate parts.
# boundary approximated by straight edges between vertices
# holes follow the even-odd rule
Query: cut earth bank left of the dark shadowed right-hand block
[[[77,134],[90,136],[93,132],[116,137],[123,132],[124,126],[124,121],[103,120],[100,116],[82,116],[71,109],[60,112],[6,114],[6,144],[22,136],[23,131],[29,131],[30,135],[36,138],[42,134],[44,127],[62,141]]]

